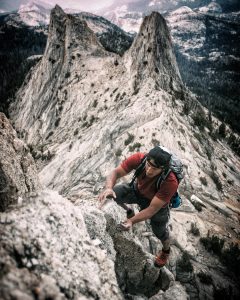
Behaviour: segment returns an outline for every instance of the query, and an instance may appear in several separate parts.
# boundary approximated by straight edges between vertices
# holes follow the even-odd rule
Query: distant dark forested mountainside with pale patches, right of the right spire
[[[166,14],[187,86],[208,109],[240,132],[240,22],[238,14],[188,7]]]

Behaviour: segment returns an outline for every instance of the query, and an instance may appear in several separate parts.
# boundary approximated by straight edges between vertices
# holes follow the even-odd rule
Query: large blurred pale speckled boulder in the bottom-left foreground
[[[123,299],[81,210],[56,192],[25,198],[0,231],[1,299]]]

